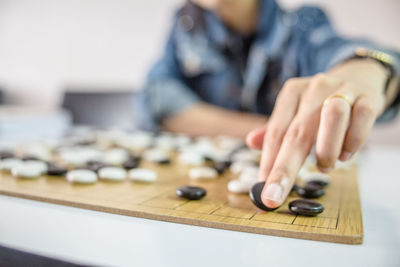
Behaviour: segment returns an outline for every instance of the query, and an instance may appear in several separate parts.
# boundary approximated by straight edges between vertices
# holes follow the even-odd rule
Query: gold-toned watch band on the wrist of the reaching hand
[[[356,49],[355,54],[352,58],[368,58],[379,62],[387,71],[387,79],[385,83],[384,94],[386,94],[389,84],[394,78],[395,70],[393,66],[393,57],[389,54],[378,50],[367,49],[364,47],[359,47]]]

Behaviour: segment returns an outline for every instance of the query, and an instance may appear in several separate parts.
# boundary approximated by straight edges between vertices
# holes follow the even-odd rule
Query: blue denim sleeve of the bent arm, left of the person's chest
[[[166,117],[200,101],[182,76],[174,38],[177,27],[175,16],[163,55],[149,71],[144,88],[135,96],[134,110],[139,128],[155,130]]]

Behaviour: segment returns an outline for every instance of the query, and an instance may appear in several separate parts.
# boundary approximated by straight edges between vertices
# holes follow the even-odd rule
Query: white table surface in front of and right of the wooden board
[[[400,150],[361,161],[364,243],[343,245],[132,218],[0,196],[0,244],[106,266],[400,266]]]

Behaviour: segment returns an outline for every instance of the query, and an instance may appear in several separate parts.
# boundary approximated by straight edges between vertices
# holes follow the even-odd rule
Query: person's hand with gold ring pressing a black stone
[[[275,208],[289,194],[313,145],[322,172],[356,153],[395,89],[384,94],[386,74],[373,60],[351,60],[329,73],[288,80],[266,126],[253,130],[247,144],[262,148],[263,203]],[[396,88],[396,85],[391,86]]]

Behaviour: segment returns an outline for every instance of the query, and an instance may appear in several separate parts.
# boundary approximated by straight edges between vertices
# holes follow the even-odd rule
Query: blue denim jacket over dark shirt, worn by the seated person
[[[188,5],[188,4],[187,4]],[[204,101],[229,110],[269,115],[283,83],[312,76],[351,58],[358,47],[400,55],[369,41],[345,39],[313,6],[293,12],[260,0],[254,36],[231,31],[213,12],[192,3],[174,16],[165,51],[135,96],[139,127],[158,129],[162,120]],[[395,116],[400,97],[382,116]]]

